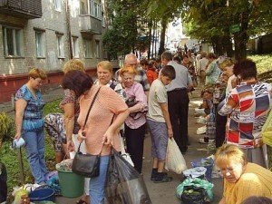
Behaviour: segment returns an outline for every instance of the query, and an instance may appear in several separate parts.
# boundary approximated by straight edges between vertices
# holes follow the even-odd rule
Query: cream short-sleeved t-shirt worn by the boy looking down
[[[156,79],[151,84],[149,93],[149,112],[147,113],[147,119],[151,121],[165,122],[163,113],[160,109],[160,103],[167,103],[167,91],[165,85]]]

